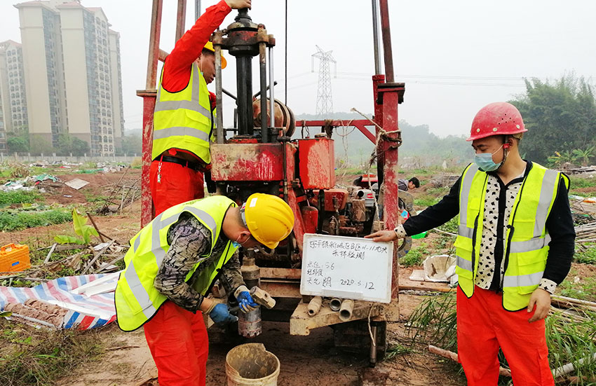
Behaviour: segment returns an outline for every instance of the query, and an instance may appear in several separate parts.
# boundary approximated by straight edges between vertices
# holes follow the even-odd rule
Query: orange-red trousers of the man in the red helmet
[[[457,288],[457,351],[468,386],[496,386],[499,347],[511,369],[515,386],[554,386],[548,364],[544,319],[524,308],[503,308],[503,294],[474,288],[467,298]]]

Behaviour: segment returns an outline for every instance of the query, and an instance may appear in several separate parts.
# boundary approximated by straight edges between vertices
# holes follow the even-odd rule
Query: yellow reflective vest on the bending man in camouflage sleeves
[[[237,205],[223,195],[183,202],[159,214],[130,240],[130,249],[124,256],[126,268],[120,274],[115,294],[116,320],[123,331],[138,329],[155,315],[167,299],[154,287],[154,280],[170,247],[168,230],[178,221],[180,214],[189,212],[211,231],[211,249],[208,254],[200,256],[203,261],[212,254],[215,242],[222,232],[224,216],[229,207],[237,207]],[[236,249],[238,248],[228,241],[222,254],[217,256],[217,259],[211,259],[210,266],[201,267],[192,284],[198,293],[205,295],[219,274],[219,270],[231,259]],[[196,263],[189,271],[185,278],[186,282],[191,280],[200,264],[200,262]]]

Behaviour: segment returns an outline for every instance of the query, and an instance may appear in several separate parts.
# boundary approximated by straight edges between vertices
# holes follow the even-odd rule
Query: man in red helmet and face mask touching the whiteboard
[[[524,132],[512,104],[483,107],[468,138],[475,162],[449,194],[395,230],[367,236],[416,235],[459,214],[457,347],[468,385],[496,386],[499,347],[514,385],[555,384],[544,318],[574,254],[569,178],[520,157]]]

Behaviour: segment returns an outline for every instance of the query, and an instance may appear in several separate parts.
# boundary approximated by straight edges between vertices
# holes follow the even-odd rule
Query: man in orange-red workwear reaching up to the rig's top
[[[174,205],[203,198],[203,172],[210,166],[215,95],[215,50],[209,40],[232,8],[251,0],[222,0],[207,8],[165,58],[154,111],[149,184],[157,216]],[[222,68],[226,60],[222,57]]]

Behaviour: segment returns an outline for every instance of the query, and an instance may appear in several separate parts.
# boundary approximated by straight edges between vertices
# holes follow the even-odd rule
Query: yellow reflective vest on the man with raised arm
[[[189,84],[178,92],[165,90],[162,80],[163,71],[155,102],[151,159],[176,148],[191,151],[205,163],[210,163],[209,141],[213,134],[215,111],[212,114],[203,74],[193,63]]]

